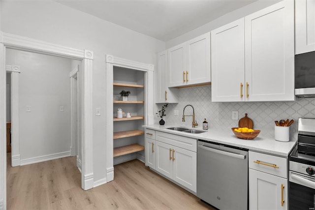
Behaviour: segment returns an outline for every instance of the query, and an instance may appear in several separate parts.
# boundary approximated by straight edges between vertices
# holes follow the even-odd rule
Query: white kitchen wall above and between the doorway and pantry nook
[[[104,115],[105,54],[154,63],[155,53],[165,49],[165,42],[100,20],[55,1],[0,1],[1,30],[59,45],[94,51],[93,108],[101,116],[93,119],[94,180],[106,176]],[[107,9],[104,8],[104,12]]]

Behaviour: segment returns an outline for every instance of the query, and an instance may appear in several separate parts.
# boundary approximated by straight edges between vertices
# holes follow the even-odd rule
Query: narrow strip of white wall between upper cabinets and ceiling
[[[275,4],[281,0],[258,0],[249,5],[246,5],[240,9],[234,10],[233,12],[227,13],[226,15],[217,18],[214,21],[211,21],[195,30],[191,30],[181,36],[178,36],[172,40],[166,42],[166,48],[173,47],[175,45],[181,44],[189,39],[192,39],[201,34],[207,33],[211,30],[217,29],[225,24],[236,21],[242,17],[245,17],[253,12],[256,12],[260,9],[266,8],[272,4]]]

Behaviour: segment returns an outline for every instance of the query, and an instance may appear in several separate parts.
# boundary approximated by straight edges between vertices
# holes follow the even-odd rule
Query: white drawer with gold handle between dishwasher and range
[[[287,179],[287,159],[284,157],[249,151],[248,161],[251,169]]]

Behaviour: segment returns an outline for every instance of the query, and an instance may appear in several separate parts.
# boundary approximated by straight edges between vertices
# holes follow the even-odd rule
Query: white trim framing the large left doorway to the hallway
[[[93,110],[92,110],[92,71],[93,52],[89,50],[77,50],[63,47],[49,42],[36,40],[15,34],[0,32],[0,101],[6,99],[6,66],[5,48],[28,50],[71,59],[83,60],[82,78],[80,86],[82,107],[80,111],[80,130],[82,141],[82,177],[81,185],[87,190],[93,187]],[[0,200],[2,208],[6,209],[6,103],[0,103]],[[13,126],[13,125],[12,125]],[[12,127],[13,129],[13,127]]]

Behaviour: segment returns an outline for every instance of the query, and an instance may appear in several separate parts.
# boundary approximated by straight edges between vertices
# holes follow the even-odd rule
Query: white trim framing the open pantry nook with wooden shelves
[[[114,180],[113,161],[113,70],[114,66],[135,69],[145,72],[145,124],[153,123],[153,64],[141,63],[133,60],[126,60],[112,55],[106,55],[106,180]],[[115,163],[124,160],[125,157],[115,158]]]

